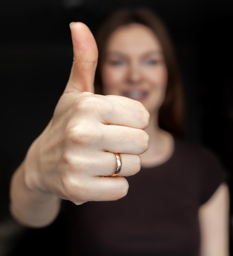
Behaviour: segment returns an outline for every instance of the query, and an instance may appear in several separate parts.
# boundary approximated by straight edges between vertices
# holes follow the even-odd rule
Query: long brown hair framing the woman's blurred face
[[[114,11],[99,27],[95,36],[99,50],[99,61],[95,76],[95,92],[103,93],[101,67],[104,61],[108,38],[118,27],[131,23],[139,23],[152,29],[163,48],[168,82],[165,100],[158,114],[158,125],[175,136],[183,137],[185,135],[184,101],[178,63],[167,29],[153,11],[145,8],[119,9]]]

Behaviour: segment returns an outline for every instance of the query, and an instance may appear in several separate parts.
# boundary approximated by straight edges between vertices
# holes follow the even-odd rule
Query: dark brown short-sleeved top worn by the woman
[[[226,175],[200,146],[175,139],[171,158],[131,177],[113,202],[68,204],[70,255],[197,256],[198,208]]]

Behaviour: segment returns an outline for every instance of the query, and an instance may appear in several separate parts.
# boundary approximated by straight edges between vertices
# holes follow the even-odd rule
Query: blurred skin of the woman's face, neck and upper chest
[[[154,32],[141,24],[119,27],[110,35],[101,68],[104,94],[141,102],[150,114],[150,145],[143,166],[156,166],[173,153],[172,136],[158,126],[158,110],[167,85],[163,48]]]

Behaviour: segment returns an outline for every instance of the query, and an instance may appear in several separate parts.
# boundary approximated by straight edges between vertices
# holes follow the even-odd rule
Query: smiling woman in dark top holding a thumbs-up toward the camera
[[[95,44],[84,27],[84,39],[74,34],[78,26],[71,25],[75,60],[65,93],[13,176],[13,216],[42,227],[62,202],[70,255],[228,256],[225,173],[211,152],[182,138],[180,77],[164,25],[143,9],[105,22],[99,94],[90,93]],[[116,177],[112,152],[122,165]]]

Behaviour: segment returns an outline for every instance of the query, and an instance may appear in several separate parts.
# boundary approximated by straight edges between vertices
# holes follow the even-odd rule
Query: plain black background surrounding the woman
[[[47,254],[66,255],[62,220],[37,233],[22,229],[12,220],[8,210],[9,181],[32,141],[50,120],[65,88],[73,59],[69,23],[85,22],[95,34],[106,15],[123,6],[149,7],[167,25],[187,96],[187,132],[191,140],[218,154],[229,173],[232,195],[233,1],[1,0],[1,256],[20,252],[41,255],[46,245],[53,245],[52,250],[46,249]],[[231,221],[229,228],[231,236]]]

